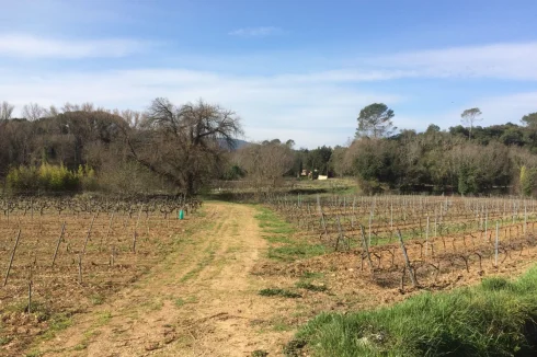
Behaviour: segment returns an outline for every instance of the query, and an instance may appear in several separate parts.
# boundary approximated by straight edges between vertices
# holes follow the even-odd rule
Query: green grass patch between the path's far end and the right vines
[[[287,263],[327,253],[324,245],[295,239],[296,230],[293,224],[283,220],[276,212],[266,207],[256,206],[256,208],[259,214],[255,218],[262,229],[263,238],[271,243],[268,258]]]

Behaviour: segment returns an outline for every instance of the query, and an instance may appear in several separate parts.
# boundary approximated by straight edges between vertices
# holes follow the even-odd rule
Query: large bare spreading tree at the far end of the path
[[[175,106],[156,99],[138,130],[127,133],[132,158],[193,195],[224,168],[226,147],[242,136],[235,112],[204,101]]]

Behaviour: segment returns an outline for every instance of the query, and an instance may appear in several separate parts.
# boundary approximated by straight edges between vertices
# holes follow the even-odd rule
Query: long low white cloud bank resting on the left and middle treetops
[[[298,146],[342,145],[354,135],[359,110],[372,102],[398,103],[389,93],[340,85],[321,73],[287,77],[238,77],[181,69],[139,69],[91,73],[12,73],[0,83],[0,97],[20,110],[28,102],[61,106],[144,110],[157,96],[176,104],[201,97],[236,111],[250,139],[294,139]]]

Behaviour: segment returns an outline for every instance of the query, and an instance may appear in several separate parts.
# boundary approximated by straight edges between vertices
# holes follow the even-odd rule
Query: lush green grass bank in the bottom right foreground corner
[[[424,292],[393,307],[322,313],[285,348],[315,356],[537,356],[537,268],[514,281]]]

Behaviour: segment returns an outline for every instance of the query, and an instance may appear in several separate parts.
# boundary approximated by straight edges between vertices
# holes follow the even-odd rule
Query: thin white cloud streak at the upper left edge
[[[18,58],[124,57],[147,47],[125,38],[58,39],[26,34],[0,34],[0,56]]]

